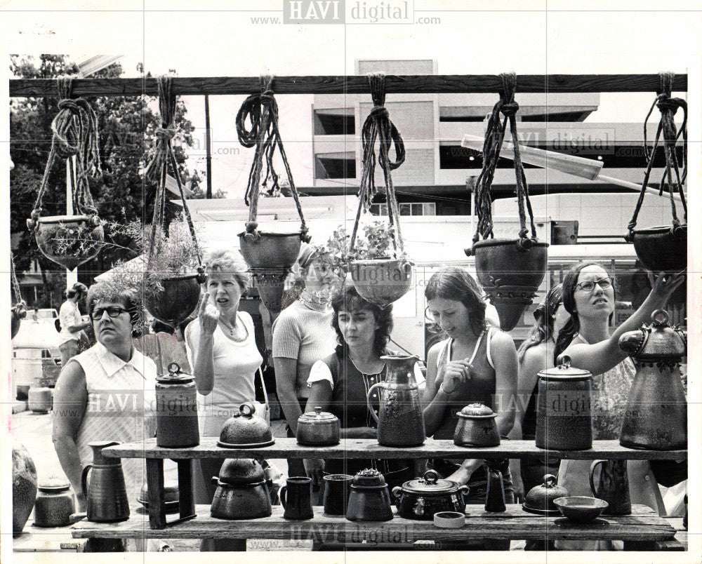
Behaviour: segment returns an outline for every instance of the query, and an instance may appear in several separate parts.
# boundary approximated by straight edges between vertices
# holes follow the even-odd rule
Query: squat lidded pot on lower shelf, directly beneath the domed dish
[[[253,459],[227,459],[220,469],[210,514],[219,519],[270,517],[270,493],[263,467]]]

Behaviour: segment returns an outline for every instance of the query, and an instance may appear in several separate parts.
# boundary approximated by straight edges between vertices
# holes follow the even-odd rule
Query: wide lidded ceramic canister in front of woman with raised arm
[[[592,373],[563,363],[538,373],[536,446],[550,450],[592,448]]]

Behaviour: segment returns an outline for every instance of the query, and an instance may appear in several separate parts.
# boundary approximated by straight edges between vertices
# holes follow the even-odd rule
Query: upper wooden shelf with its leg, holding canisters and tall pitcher
[[[552,457],[555,459],[677,459],[687,456],[687,450],[634,450],[625,448],[619,441],[594,441],[588,450],[543,450],[536,448],[534,441],[503,441],[501,445],[490,448],[465,448],[453,444],[451,440],[435,440],[428,438],[420,447],[393,448],[378,445],[376,439],[344,439],[339,445],[331,447],[305,447],[298,445],[295,438],[276,438],[273,445],[264,448],[232,449],[217,446],[217,439],[202,438],[201,443],[192,448],[161,448],[156,445],[156,439],[125,443],[122,445],[105,448],[102,452],[109,457],[119,458],[145,458],[147,465],[147,488],[149,494],[149,525],[152,530],[161,530],[169,525],[180,523],[185,526],[185,521],[190,520],[196,513],[192,495],[192,460],[196,458],[479,458],[479,459],[505,459],[524,458],[529,456]],[[178,487],[180,490],[179,518],[169,523],[166,521],[166,506],[164,504],[164,459],[173,459],[178,464]],[[519,509],[519,515],[522,515]],[[201,523],[203,514],[199,511],[197,524],[187,525],[197,527]],[[345,520],[344,520],[345,521]],[[534,521],[527,521],[534,523]],[[222,525],[223,521],[215,520],[214,523]],[[235,528],[241,526],[241,521],[234,522]],[[253,521],[254,528],[261,528],[263,521]],[[349,523],[346,521],[346,523]],[[411,521],[410,523],[420,523]],[[660,524],[660,523],[659,523]],[[128,527],[128,525],[126,525]],[[431,525],[433,528],[433,525]],[[483,525],[484,526],[484,523]],[[143,531],[143,529],[140,529]],[[668,530],[668,528],[666,528]],[[169,531],[173,528],[169,527]],[[484,531],[481,531],[484,532]],[[543,537],[543,530],[539,531]],[[204,534],[204,533],[203,533]],[[473,532],[472,534],[475,534]],[[674,534],[674,533],[673,533]],[[671,535],[672,536],[672,535]],[[247,535],[245,538],[256,538]],[[277,538],[264,536],[260,538]],[[287,537],[286,537],[287,538]],[[499,538],[499,537],[495,537]],[[527,538],[527,537],[511,537]],[[598,537],[600,538],[600,537]],[[601,537],[606,538],[606,537]],[[621,537],[616,537],[620,538]],[[631,539],[635,542],[635,539]]]

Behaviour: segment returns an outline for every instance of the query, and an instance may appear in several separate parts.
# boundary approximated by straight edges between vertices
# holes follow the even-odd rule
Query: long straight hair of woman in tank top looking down
[[[468,309],[470,328],[475,335],[480,335],[487,324],[485,321],[485,302],[478,283],[467,271],[459,267],[442,267],[429,278],[424,289],[424,297],[429,300],[453,300],[461,302]]]

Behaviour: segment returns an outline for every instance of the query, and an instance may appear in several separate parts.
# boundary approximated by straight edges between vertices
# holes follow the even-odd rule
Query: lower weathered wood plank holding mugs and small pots
[[[143,508],[135,507],[129,521],[89,523],[72,526],[75,538],[246,538],[312,539],[317,542],[406,543],[416,540],[461,539],[610,539],[633,542],[656,542],[672,539],[675,528],[664,519],[634,506],[629,516],[606,516],[591,524],[571,523],[562,517],[544,517],[527,513],[519,505],[509,505],[505,513],[486,513],[482,506],[469,506],[466,524],[461,529],[439,529],[431,521],[411,521],[398,516],[392,521],[352,522],[342,517],[324,516],[322,507],[314,508],[308,521],[288,521],[281,506],[273,507],[267,518],[225,521],[210,516],[209,506],[196,507],[197,518],[165,529],[149,529]]]

